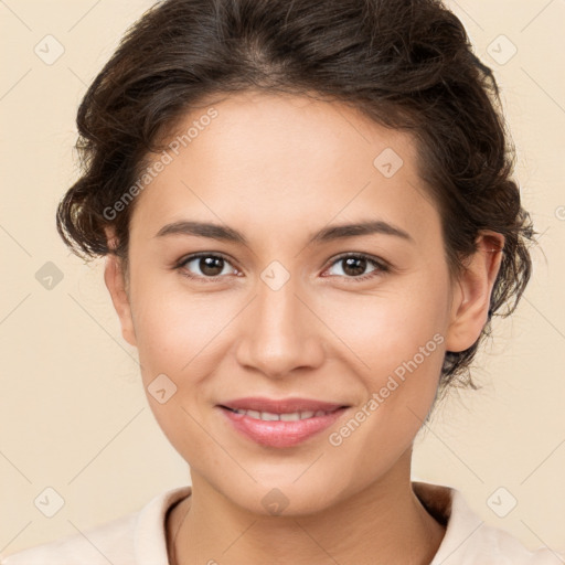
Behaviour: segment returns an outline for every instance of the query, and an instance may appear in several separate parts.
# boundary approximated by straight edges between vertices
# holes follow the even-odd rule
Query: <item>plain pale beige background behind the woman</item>
[[[2,182],[0,207],[0,552],[13,553],[139,509],[188,481],[139,384],[102,276],[55,231],[58,199],[76,177],[74,118],[126,28],[150,1],[0,2]],[[535,271],[512,321],[417,444],[414,479],[460,489],[489,524],[530,547],[565,551],[565,2],[459,0],[477,53],[503,88],[519,149],[518,178],[541,237]],[[63,55],[34,52],[47,34]],[[510,42],[500,39],[505,35]],[[518,52],[512,54],[512,44]],[[56,45],[50,44],[50,53]],[[489,47],[491,45],[491,47]],[[492,52],[495,62],[489,55]],[[46,56],[44,54],[43,56]],[[559,252],[559,248],[562,249]],[[64,278],[35,278],[47,262]],[[65,504],[44,516],[52,487]],[[500,487],[518,505],[499,518]],[[499,508],[501,508],[499,505]]]

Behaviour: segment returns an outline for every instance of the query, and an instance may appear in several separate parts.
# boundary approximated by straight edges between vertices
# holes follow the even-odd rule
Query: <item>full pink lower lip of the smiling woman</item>
[[[347,408],[338,408],[324,416],[294,422],[263,420],[237,414],[220,406],[234,428],[253,441],[269,447],[292,447],[330,427]]]

